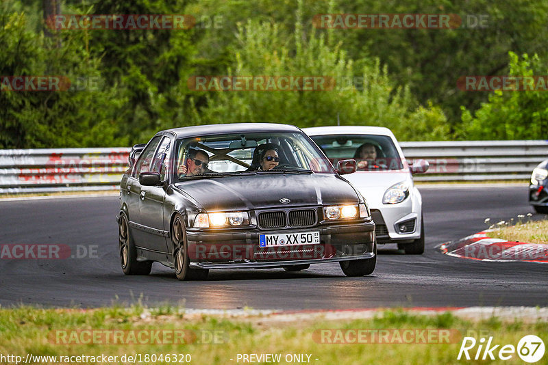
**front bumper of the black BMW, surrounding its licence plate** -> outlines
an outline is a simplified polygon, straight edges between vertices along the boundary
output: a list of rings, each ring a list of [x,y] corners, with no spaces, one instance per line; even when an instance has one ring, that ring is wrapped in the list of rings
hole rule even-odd
[[[260,234],[320,232],[320,243],[259,246]],[[201,269],[280,267],[361,260],[375,257],[375,224],[371,222],[286,230],[203,232],[188,229],[190,267]]]

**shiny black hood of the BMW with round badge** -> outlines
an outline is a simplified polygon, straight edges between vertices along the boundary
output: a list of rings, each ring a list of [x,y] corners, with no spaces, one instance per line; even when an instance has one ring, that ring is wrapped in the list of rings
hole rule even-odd
[[[206,211],[239,211],[275,206],[356,204],[358,193],[332,174],[257,174],[202,178],[175,184]],[[291,202],[282,204],[287,198]]]

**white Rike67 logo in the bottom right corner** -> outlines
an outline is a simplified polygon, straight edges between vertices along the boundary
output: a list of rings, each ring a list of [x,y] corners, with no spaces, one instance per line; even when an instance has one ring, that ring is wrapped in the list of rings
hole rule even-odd
[[[523,336],[516,347],[513,344],[497,344],[493,342],[493,336],[487,340],[482,337],[479,341],[464,337],[457,360],[510,360],[517,353],[521,360],[532,364],[542,359],[544,352],[543,340],[534,335]]]

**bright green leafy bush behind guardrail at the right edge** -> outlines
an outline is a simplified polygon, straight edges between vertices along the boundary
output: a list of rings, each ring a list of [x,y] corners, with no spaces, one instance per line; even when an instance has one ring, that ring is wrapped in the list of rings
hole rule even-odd
[[[510,75],[548,75],[537,55],[510,55]],[[548,94],[542,91],[496,91],[473,113],[462,107],[462,139],[542,139],[548,131]]]

